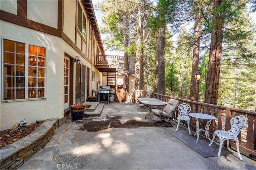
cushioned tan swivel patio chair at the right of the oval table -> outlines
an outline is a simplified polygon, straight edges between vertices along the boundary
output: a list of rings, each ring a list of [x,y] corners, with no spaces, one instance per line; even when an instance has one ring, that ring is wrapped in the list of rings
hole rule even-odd
[[[156,124],[159,126],[173,126],[172,118],[174,113],[177,111],[177,106],[180,103],[180,100],[170,99],[168,104],[164,107],[164,110],[152,109],[154,115],[160,118],[160,121],[156,121]]]

